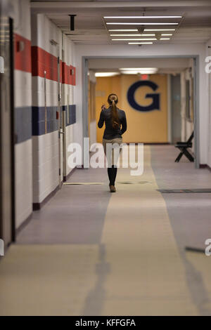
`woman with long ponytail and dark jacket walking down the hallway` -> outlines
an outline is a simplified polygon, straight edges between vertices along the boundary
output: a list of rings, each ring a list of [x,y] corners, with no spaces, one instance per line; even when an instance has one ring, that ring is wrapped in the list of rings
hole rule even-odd
[[[108,95],[108,109],[105,105],[101,107],[101,115],[98,121],[98,127],[102,128],[104,121],[106,128],[103,134],[103,148],[106,154],[107,143],[122,144],[122,134],[127,131],[127,120],[125,112],[117,107],[118,98],[116,94]],[[112,167],[108,167],[108,178],[110,192],[116,192],[115,179],[117,176],[117,167],[115,167],[114,155],[112,157]]]

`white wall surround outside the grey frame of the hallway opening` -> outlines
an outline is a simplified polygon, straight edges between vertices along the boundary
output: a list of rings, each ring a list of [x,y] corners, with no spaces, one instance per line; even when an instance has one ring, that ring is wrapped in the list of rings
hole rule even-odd
[[[167,44],[152,46],[124,46],[111,45],[107,47],[94,45],[76,46],[76,65],[77,65],[77,131],[79,135],[77,142],[82,144],[82,57],[101,56],[101,57],[124,57],[124,56],[199,56],[199,117],[200,117],[200,164],[207,164],[207,119],[208,104],[206,96],[206,75],[205,75],[205,44]]]

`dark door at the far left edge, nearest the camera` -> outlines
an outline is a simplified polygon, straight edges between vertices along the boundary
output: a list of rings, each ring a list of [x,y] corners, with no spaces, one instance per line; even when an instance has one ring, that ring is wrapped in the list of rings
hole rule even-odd
[[[15,240],[13,20],[1,12],[0,30],[0,238],[8,246]]]

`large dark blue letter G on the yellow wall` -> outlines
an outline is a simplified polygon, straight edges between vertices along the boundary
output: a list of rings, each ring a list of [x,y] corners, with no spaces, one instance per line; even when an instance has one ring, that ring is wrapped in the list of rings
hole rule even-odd
[[[129,87],[129,90],[127,91],[127,100],[131,107],[133,107],[135,110],[139,111],[151,111],[151,110],[160,110],[160,94],[146,94],[145,98],[152,98],[153,102],[151,105],[139,105],[139,103],[136,103],[136,100],[134,98],[134,93],[136,92],[136,89],[141,86],[149,86],[152,88],[153,91],[156,91],[158,88],[158,85],[153,83],[153,81],[148,80],[141,80],[136,81],[132,86]]]

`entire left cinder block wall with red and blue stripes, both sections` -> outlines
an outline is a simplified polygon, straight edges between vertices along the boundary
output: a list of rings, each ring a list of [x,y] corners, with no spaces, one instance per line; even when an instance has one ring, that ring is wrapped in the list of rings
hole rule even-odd
[[[74,128],[77,121],[75,45],[45,15],[31,15],[30,0],[11,0],[11,4],[14,9],[15,220],[18,228],[32,214],[33,204],[40,205],[56,190],[63,176],[70,173],[68,145],[75,142],[79,132]],[[57,117],[58,91],[60,112],[66,117],[65,143],[63,136],[60,139],[60,176],[58,128],[62,117]]]

